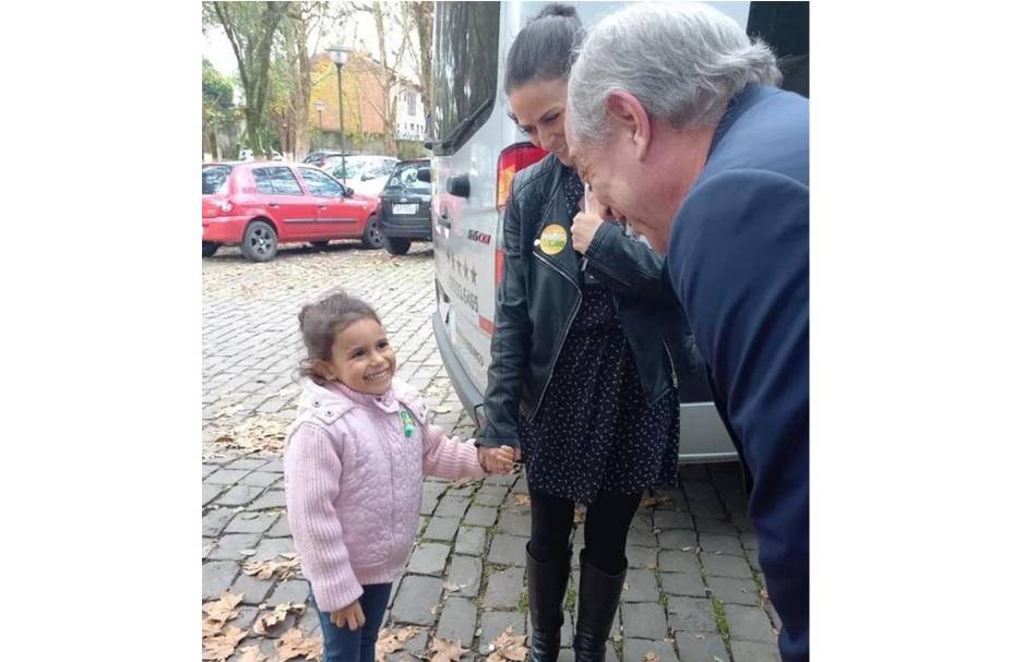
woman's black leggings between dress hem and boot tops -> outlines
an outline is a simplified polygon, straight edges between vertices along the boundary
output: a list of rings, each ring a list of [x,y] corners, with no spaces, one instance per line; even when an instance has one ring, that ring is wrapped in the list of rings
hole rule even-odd
[[[600,494],[587,506],[584,559],[617,575],[626,569],[626,539],[642,494]],[[569,553],[573,502],[531,491],[531,544],[535,561],[549,563]]]

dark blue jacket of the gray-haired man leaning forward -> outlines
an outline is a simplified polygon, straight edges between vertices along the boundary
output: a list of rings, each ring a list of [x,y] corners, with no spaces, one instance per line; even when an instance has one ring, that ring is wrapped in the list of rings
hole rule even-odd
[[[754,481],[781,655],[808,660],[808,99],[753,86],[728,107],[667,268]]]

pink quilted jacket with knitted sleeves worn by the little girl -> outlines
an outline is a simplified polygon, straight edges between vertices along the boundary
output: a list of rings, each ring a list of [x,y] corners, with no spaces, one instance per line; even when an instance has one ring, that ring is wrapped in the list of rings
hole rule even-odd
[[[393,581],[404,570],[424,474],[485,476],[477,447],[450,440],[427,413],[421,395],[400,380],[383,396],[307,380],[285,442],[285,493],[295,549],[321,611],[346,606],[362,585]]]

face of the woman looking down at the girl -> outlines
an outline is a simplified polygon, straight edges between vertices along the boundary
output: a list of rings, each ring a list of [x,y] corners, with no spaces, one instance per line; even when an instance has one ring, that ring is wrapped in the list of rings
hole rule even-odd
[[[572,166],[565,146],[565,92],[561,79],[521,85],[510,93],[510,118],[532,143]]]

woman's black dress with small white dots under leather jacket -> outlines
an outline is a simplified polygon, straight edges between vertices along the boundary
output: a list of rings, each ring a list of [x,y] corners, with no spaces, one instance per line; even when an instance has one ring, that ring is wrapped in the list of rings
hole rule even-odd
[[[583,185],[565,183],[573,215]],[[647,402],[614,294],[582,284],[583,300],[534,421],[521,417],[532,490],[581,504],[598,494],[635,494],[675,482],[678,393]]]

